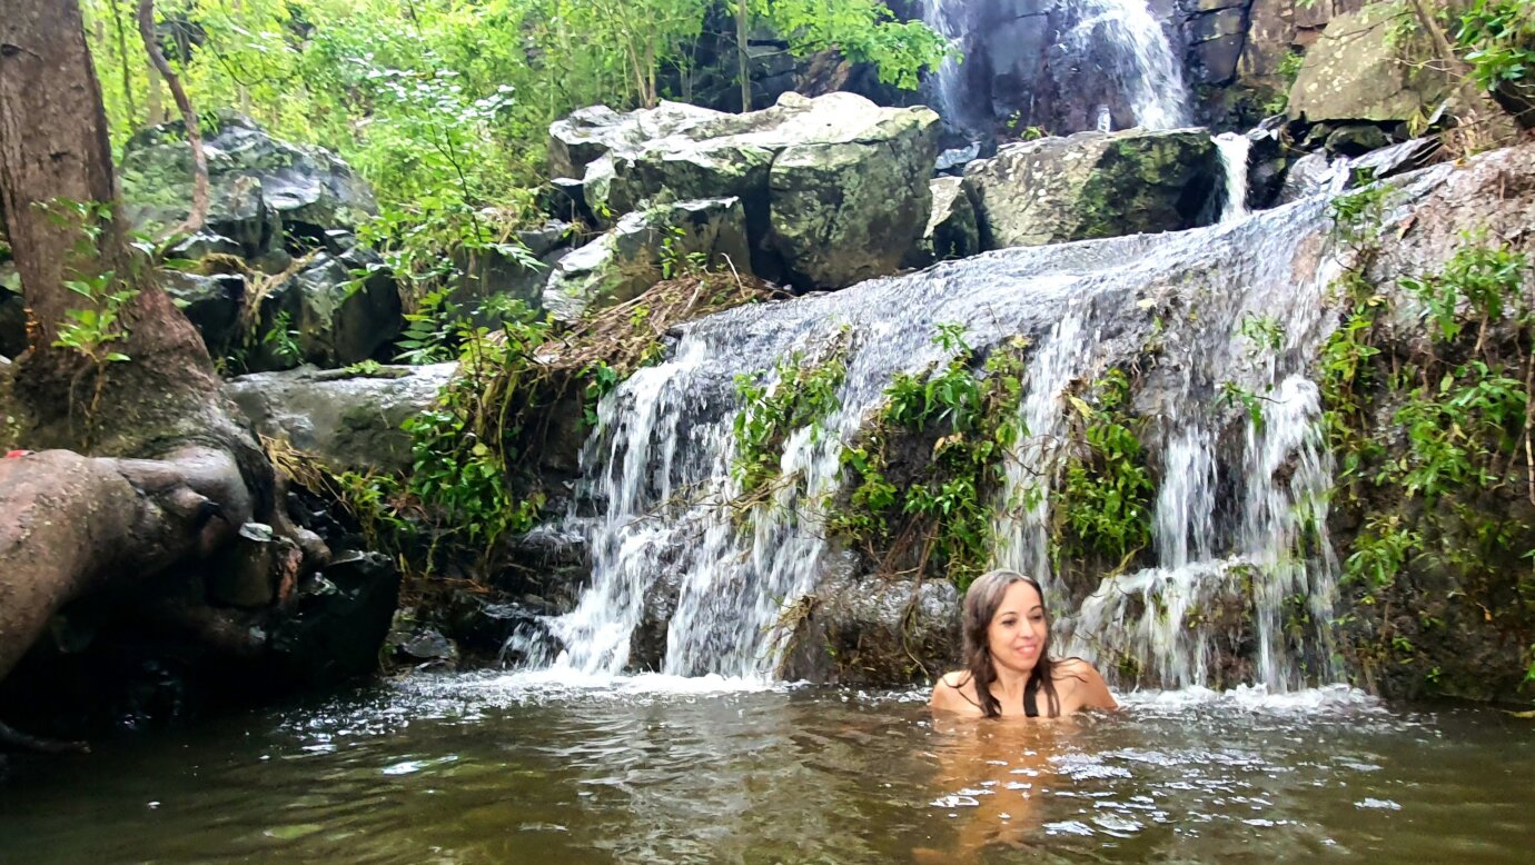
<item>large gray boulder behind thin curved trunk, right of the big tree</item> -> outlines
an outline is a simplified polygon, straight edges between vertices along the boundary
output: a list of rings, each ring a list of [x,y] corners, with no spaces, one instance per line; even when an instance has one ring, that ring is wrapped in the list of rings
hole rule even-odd
[[[318,239],[356,227],[378,210],[367,181],[324,147],[290,144],[232,112],[204,118],[209,170],[207,225],[249,258],[284,247],[286,235]],[[186,219],[192,202],[192,149],[186,126],[135,133],[118,170],[129,218],[157,230]]]

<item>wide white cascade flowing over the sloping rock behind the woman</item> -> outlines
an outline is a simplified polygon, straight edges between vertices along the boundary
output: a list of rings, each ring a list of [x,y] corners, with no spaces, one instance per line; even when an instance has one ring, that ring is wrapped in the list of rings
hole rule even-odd
[[[896,373],[946,359],[932,337],[938,324],[959,322],[976,347],[1015,334],[1035,342],[1021,406],[1028,437],[1007,465],[993,529],[998,563],[1044,580],[1065,647],[1110,670],[1133,658],[1142,681],[1170,687],[1245,679],[1282,690],[1302,682],[1286,640],[1309,627],[1305,664],[1326,678],[1331,466],[1305,379],[1326,330],[1331,273],[1315,259],[1325,235],[1323,201],[1308,199],[1208,229],[985,253],[686,325],[671,360],[635,373],[600,406],[582,492],[600,515],[573,517],[589,540],[593,584],[553,623],[559,663],[774,676],[780,618],[829,567],[818,506],[841,482],[841,443]],[[840,340],[849,340],[841,408],[824,434],[789,437],[791,482],[741,528],[726,506],[738,492],[735,376],[791,351],[814,359]],[[1053,569],[1048,535],[1062,391],[1116,367],[1139,368],[1134,409],[1151,419],[1142,443],[1162,477],[1156,564],[1070,584]],[[1254,394],[1262,416],[1223,391]],[[1217,670],[1216,649],[1243,640],[1257,644],[1251,669]]]

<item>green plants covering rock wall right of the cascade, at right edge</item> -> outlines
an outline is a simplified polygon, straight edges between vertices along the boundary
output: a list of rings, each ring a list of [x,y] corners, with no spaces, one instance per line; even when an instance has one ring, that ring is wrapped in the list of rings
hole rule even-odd
[[[1517,633],[1535,621],[1529,577],[1518,575],[1527,566],[1514,552],[1532,529],[1517,498],[1535,503],[1529,264],[1467,235],[1440,268],[1403,278],[1409,310],[1392,310],[1368,278],[1380,250],[1378,225],[1363,224],[1378,219],[1371,210],[1335,210],[1360,219],[1339,232],[1354,242],[1357,262],[1340,281],[1343,321],[1320,370],[1328,439],[1342,466],[1337,500],[1362,526],[1343,557],[1343,584],[1360,609],[1382,610],[1349,623],[1355,643],[1348,650],[1366,675],[1449,659],[1414,643],[1394,606],[1418,610],[1415,633],[1443,629],[1455,606],[1471,607],[1457,627],[1486,621]],[[1406,339],[1397,331],[1405,311],[1423,324]],[[1382,405],[1394,406],[1389,423],[1372,429]],[[1449,580],[1449,590],[1424,595],[1421,580],[1401,580],[1409,566],[1431,583]],[[1448,670],[1420,672],[1435,690],[1466,687]]]

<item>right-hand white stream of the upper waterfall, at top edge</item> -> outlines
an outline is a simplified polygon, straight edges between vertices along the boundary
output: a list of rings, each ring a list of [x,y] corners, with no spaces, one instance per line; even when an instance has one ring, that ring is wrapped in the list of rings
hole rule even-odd
[[[1188,84],[1147,0],[1084,0],[1079,14],[1064,43],[1076,55],[1088,55],[1094,48],[1108,52],[1104,72],[1119,84],[1136,126],[1188,126]]]

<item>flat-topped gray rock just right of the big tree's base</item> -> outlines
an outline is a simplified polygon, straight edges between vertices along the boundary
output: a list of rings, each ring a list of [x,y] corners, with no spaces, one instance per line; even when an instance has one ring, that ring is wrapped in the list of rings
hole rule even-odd
[[[224,385],[262,436],[292,443],[332,471],[404,471],[410,434],[401,425],[436,403],[456,363],[255,373]]]

